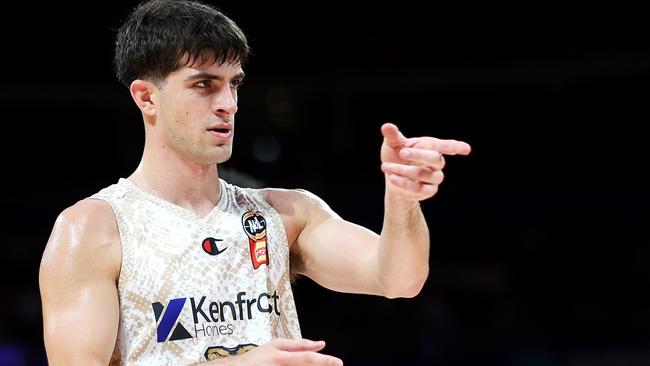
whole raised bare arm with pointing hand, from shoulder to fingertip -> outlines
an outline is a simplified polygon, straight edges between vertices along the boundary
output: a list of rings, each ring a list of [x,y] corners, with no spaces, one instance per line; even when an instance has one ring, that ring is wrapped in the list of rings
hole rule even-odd
[[[332,290],[394,297],[419,293],[429,271],[429,231],[419,201],[442,182],[442,154],[467,154],[464,142],[405,138],[382,127],[385,173],[381,235],[343,220],[318,197],[274,190],[271,202],[285,219],[297,272]]]

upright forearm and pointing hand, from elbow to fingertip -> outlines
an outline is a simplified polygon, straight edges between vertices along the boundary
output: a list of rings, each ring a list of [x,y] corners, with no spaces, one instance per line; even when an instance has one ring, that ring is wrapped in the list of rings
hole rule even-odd
[[[384,224],[378,250],[379,282],[388,297],[417,295],[429,273],[429,230],[420,201],[433,197],[444,178],[444,155],[467,155],[469,144],[434,137],[406,138],[381,127],[381,169],[386,180]]]

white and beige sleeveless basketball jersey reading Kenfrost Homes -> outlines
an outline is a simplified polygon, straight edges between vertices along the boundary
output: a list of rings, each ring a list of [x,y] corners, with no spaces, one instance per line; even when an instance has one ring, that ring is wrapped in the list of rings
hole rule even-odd
[[[254,189],[223,180],[201,218],[120,179],[106,201],[122,241],[111,365],[187,365],[300,338],[282,219]]]

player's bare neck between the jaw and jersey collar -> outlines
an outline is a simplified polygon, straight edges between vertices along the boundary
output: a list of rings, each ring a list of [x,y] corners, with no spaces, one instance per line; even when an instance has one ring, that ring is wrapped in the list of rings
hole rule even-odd
[[[216,164],[197,164],[170,149],[148,149],[128,178],[141,189],[204,216],[219,201]]]

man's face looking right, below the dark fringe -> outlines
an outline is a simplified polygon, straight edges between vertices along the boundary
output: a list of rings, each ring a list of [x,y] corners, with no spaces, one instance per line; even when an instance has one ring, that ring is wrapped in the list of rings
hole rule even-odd
[[[167,77],[157,94],[156,131],[165,147],[197,164],[230,158],[241,65],[190,65]]]

